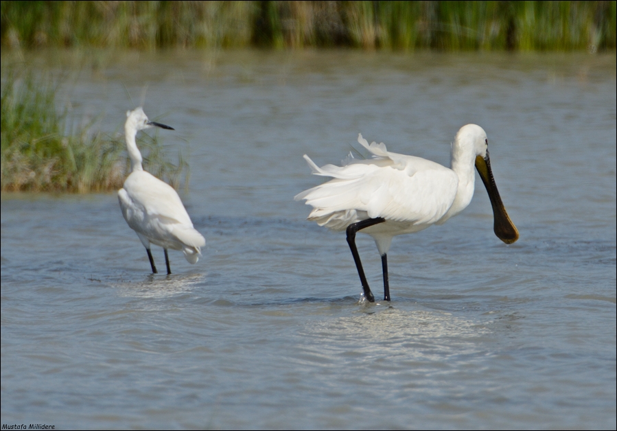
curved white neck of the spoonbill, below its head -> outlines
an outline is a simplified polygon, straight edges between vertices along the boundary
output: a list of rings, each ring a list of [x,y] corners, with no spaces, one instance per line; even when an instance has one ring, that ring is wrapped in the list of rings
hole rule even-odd
[[[474,172],[474,161],[476,154],[470,145],[458,145],[455,141],[452,144],[452,170],[458,175],[458,190],[452,207],[444,215],[443,221],[452,217],[467,208],[469,202],[474,197],[474,187],[476,185],[476,172]],[[441,222],[441,220],[440,220]]]

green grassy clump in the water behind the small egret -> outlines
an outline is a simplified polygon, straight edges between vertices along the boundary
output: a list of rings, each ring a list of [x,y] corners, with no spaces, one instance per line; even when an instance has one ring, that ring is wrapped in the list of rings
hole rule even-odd
[[[4,69],[4,68],[3,68]],[[2,191],[88,193],[122,187],[130,169],[124,137],[92,132],[93,124],[74,126],[56,93],[62,80],[27,69],[3,70],[1,86]],[[145,169],[178,187],[187,164],[167,161],[156,138],[138,139]]]

